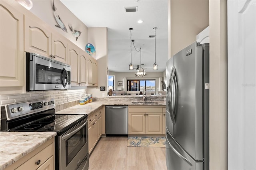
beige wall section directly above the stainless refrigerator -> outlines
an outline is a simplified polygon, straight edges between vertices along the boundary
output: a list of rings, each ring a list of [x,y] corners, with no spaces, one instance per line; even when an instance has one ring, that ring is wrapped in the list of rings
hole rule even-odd
[[[170,58],[209,26],[209,0],[170,0]]]

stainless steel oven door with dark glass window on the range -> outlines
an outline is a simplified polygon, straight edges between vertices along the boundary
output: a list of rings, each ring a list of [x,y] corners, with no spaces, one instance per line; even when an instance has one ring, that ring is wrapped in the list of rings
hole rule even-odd
[[[77,170],[88,154],[88,121],[85,119],[59,136],[59,170]],[[86,161],[89,161],[87,158]],[[89,162],[86,164],[89,164]]]

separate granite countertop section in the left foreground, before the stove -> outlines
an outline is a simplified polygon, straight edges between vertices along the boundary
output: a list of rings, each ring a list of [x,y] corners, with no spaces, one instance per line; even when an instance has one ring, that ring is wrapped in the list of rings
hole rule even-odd
[[[0,170],[32,152],[56,132],[0,132]]]

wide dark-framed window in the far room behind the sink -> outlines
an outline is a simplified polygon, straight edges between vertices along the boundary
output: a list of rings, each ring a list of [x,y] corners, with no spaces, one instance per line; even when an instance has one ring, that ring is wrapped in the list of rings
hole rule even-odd
[[[156,80],[127,80],[127,91],[151,91],[156,94]]]

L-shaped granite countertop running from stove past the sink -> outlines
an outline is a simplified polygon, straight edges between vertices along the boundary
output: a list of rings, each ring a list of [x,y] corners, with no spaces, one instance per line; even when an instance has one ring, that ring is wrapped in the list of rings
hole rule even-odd
[[[140,104],[132,103],[132,101],[93,101],[85,105],[75,105],[67,109],[56,112],[56,114],[87,114],[100,109],[104,105],[128,105],[128,106],[166,106],[166,101],[156,101],[158,103]]]

